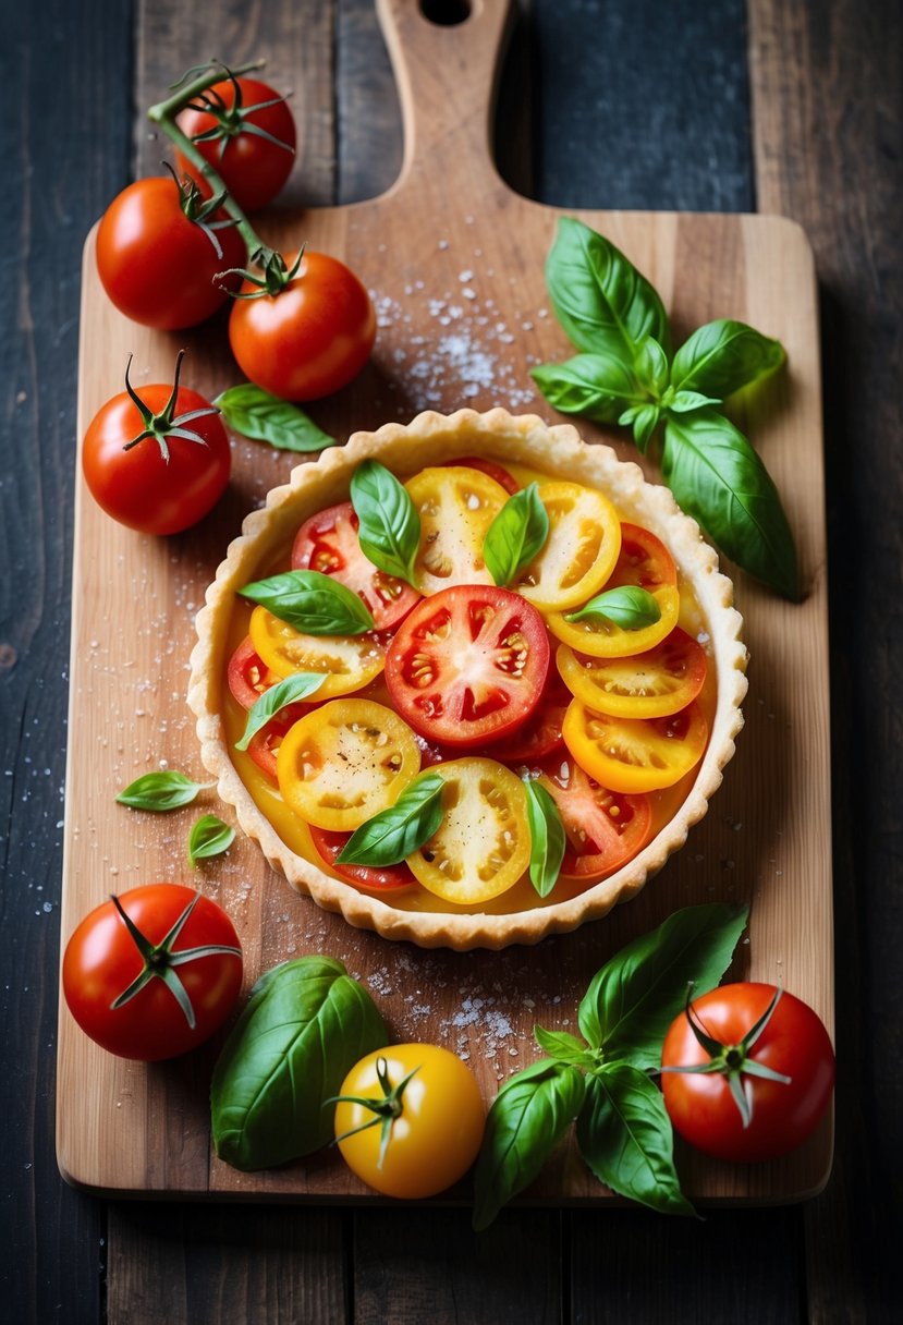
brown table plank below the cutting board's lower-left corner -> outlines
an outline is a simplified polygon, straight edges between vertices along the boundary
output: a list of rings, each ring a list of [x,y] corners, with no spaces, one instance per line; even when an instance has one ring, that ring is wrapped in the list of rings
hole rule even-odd
[[[319,1210],[110,1207],[109,1325],[335,1325],[342,1220]]]

